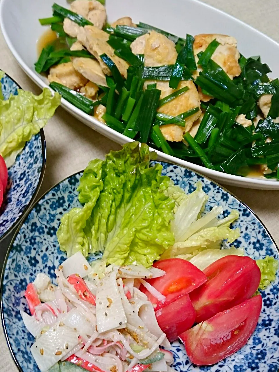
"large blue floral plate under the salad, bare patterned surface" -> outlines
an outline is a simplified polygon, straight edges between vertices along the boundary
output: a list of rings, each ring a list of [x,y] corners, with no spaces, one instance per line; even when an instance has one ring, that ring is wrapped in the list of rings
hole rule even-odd
[[[234,228],[240,227],[241,238],[234,242],[236,247],[245,247],[246,253],[254,259],[272,255],[279,259],[269,232],[253,212],[221,186],[185,168],[161,163],[163,174],[173,179],[186,192],[195,190],[199,180],[209,195],[206,210],[221,205],[224,217],[231,209],[240,212]],[[7,343],[17,368],[21,372],[37,372],[38,367],[30,352],[34,339],[25,329],[20,310],[27,310],[23,297],[29,282],[39,272],[47,273],[55,280],[54,269],[65,259],[60,252],[56,232],[62,215],[73,207],[80,206],[77,186],[82,173],[65,179],[45,194],[34,206],[19,227],[7,253],[1,278],[1,317]],[[94,259],[93,256],[92,258]],[[279,368],[279,277],[264,292],[263,309],[259,323],[246,346],[234,355],[214,366],[197,367],[189,362],[185,349],[179,341],[172,344],[175,362],[173,368],[179,372],[277,372]]]

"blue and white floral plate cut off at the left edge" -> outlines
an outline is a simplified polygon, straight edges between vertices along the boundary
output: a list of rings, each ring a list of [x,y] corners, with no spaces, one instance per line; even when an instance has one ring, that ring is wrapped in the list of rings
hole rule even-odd
[[[8,75],[1,79],[4,99],[16,95],[20,86]],[[0,241],[19,223],[31,207],[45,173],[46,147],[44,131],[32,137],[16,162],[8,169],[9,180],[0,208]]]

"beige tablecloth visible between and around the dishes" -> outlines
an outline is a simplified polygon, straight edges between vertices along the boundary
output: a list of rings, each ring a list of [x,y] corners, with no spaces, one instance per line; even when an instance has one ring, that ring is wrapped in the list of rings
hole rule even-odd
[[[205,2],[230,13],[279,41],[278,0],[205,0]],[[0,68],[13,77],[23,89],[31,90],[35,93],[40,92],[38,87],[20,69],[7,48],[1,33]],[[96,157],[104,158],[104,155],[109,150],[118,150],[120,148],[115,142],[87,128],[87,126],[77,121],[62,108],[57,110],[54,118],[46,126],[45,137],[47,141],[47,168],[39,196],[65,177],[84,169],[89,160]],[[277,244],[279,244],[279,191],[226,187],[253,209],[266,225]],[[3,262],[8,243],[8,240],[1,243],[0,264]],[[0,371],[17,371],[2,330],[0,330]]]

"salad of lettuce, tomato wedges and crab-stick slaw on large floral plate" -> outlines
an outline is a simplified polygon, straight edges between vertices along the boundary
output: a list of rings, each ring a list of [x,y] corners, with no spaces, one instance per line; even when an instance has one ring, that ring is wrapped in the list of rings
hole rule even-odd
[[[187,195],[153,158],[131,142],[84,170],[81,206],[57,231],[68,258],[54,282],[39,273],[25,291],[42,372],[171,372],[177,339],[212,365],[253,334],[278,261],[235,248],[238,212],[205,212],[202,183]]]

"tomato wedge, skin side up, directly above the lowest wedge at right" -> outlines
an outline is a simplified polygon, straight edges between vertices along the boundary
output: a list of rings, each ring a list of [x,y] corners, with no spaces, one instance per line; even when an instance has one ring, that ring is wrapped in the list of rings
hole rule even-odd
[[[190,294],[196,323],[250,298],[259,288],[261,272],[250,257],[227,256],[203,270],[208,281]]]

